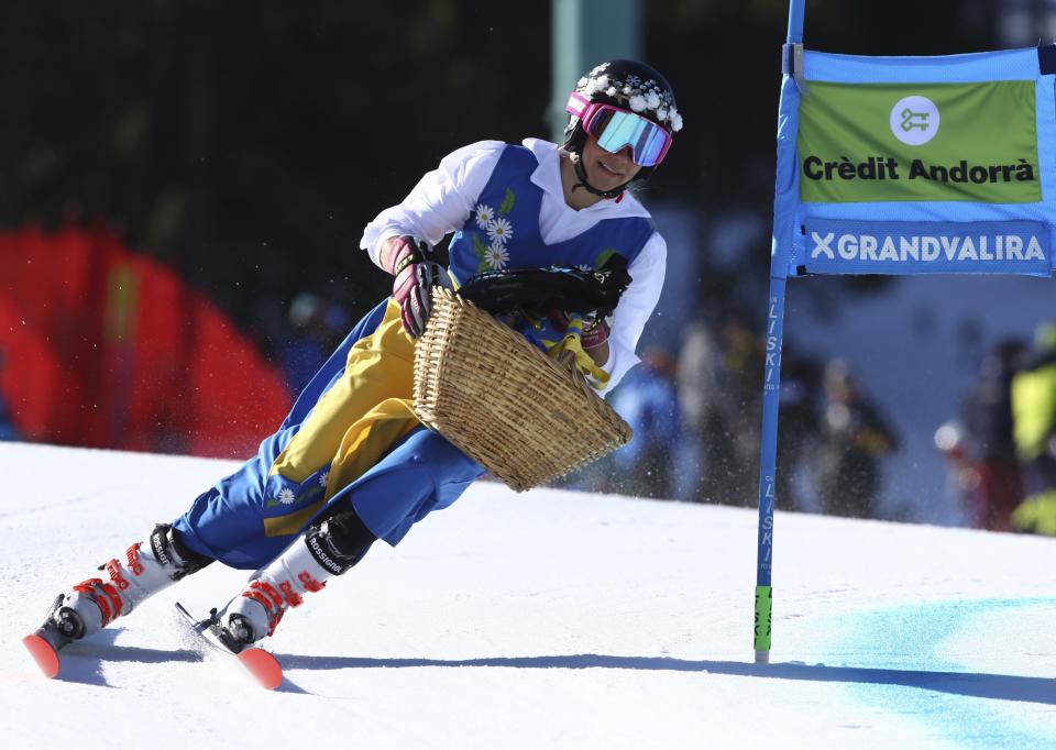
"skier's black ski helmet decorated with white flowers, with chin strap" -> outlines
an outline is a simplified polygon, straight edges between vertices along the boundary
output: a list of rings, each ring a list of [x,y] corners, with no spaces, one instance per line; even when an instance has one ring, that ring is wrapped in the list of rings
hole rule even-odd
[[[682,115],[674,101],[674,90],[656,68],[636,60],[612,59],[580,78],[566,108],[572,117],[564,129],[564,150],[574,155],[575,174],[583,186],[603,198],[616,198],[628,185],[649,179],[657,167],[641,167],[634,179],[612,190],[602,191],[587,183],[581,158],[586,144],[586,131],[576,114],[584,101],[591,104],[612,104],[639,114],[658,124],[669,136],[682,130]]]

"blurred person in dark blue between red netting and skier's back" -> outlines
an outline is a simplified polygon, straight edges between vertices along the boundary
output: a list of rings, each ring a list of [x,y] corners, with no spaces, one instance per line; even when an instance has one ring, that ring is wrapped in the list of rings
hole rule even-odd
[[[349,326],[348,313],[333,302],[302,293],[289,306],[289,339],[280,346],[289,391],[300,393],[337,348]]]

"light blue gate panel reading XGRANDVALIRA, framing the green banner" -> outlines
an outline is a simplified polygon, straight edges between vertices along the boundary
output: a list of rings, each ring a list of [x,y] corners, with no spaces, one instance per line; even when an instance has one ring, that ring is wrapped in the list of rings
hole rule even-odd
[[[787,278],[803,273],[1050,276],[1056,239],[1056,76],[1048,70],[1043,73],[1041,62],[1042,56],[1050,52],[1052,47],[1042,47],[943,57],[862,57],[804,51],[799,56],[799,82],[792,75],[785,75],[782,80],[771,276]],[[1007,80],[1034,84],[1042,200],[1025,203],[800,200],[799,109],[802,98],[810,96],[812,81],[913,85]],[[814,233],[823,239],[833,234],[828,251],[824,250],[824,242],[823,249],[817,249]],[[846,256],[839,252],[844,235],[849,235],[843,240]],[[888,240],[890,243],[886,244]],[[853,246],[856,250],[853,251]]]

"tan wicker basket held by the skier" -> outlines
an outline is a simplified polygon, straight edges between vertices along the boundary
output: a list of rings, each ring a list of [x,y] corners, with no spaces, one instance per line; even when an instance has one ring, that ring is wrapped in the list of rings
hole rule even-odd
[[[415,348],[415,411],[517,492],[631,438],[571,360],[554,362],[455,294],[433,290]]]

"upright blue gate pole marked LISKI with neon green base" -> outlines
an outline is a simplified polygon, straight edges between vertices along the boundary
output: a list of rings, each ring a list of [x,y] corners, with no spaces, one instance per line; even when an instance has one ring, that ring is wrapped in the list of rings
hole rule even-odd
[[[800,91],[792,75],[802,59],[791,46],[803,42],[806,0],[790,0],[789,30],[781,103],[778,111],[778,170],[773,198],[773,244],[770,257],[770,296],[767,300],[767,362],[762,383],[762,433],[759,446],[759,533],[756,558],[756,661],[770,661],[773,622],[773,506],[777,501],[778,413],[781,388],[781,345],[784,338],[784,288],[796,203],[795,137],[799,131]]]

